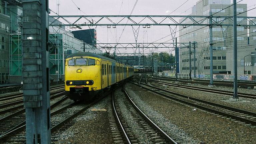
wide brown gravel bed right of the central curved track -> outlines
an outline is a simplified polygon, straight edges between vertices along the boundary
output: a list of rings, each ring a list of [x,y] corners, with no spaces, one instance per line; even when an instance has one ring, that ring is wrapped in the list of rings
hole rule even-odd
[[[156,113],[161,114],[166,123],[177,125],[197,140],[197,143],[242,144],[256,141],[256,128],[193,110],[133,84],[127,84],[126,87],[134,102],[146,115],[152,118]],[[147,108],[156,113],[152,110],[147,111]]]

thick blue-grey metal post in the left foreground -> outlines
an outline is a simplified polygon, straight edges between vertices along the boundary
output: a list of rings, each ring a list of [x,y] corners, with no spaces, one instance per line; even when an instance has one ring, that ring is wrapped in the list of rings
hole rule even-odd
[[[23,0],[23,101],[26,143],[50,144],[48,0]]]

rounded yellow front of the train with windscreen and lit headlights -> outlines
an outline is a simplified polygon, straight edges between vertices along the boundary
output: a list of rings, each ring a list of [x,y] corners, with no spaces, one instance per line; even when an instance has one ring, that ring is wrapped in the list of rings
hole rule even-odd
[[[65,61],[65,91],[71,100],[91,100],[101,90],[100,60],[95,57],[70,57]]]

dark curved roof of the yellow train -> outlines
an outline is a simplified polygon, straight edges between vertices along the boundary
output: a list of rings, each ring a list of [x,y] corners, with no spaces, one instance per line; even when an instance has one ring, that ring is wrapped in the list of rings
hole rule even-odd
[[[78,57],[78,56],[96,57],[96,58],[100,58],[100,59],[106,59],[106,60],[115,61],[115,62],[118,62],[118,63],[121,63],[121,64],[125,64],[125,63],[119,62],[117,60],[111,59],[109,57],[105,57],[105,56],[102,56],[102,55],[99,55],[99,54],[96,54],[96,53],[90,53],[90,52],[77,52],[77,53],[73,53],[71,55],[68,55],[67,58]],[[125,64],[125,65],[131,66],[131,65],[128,65],[128,64]]]

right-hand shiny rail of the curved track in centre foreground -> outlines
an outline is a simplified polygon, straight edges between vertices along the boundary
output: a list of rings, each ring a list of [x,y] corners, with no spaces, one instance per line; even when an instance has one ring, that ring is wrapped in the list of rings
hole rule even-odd
[[[170,142],[170,144],[177,144],[170,136],[168,136],[161,128],[159,128],[153,121],[151,121],[137,106],[136,104],[132,101],[132,99],[130,98],[129,94],[127,93],[127,91],[125,90],[125,88],[123,87],[123,91],[126,94],[126,96],[128,97],[130,103],[132,104],[132,106],[136,109],[136,111],[138,111],[167,141]]]

